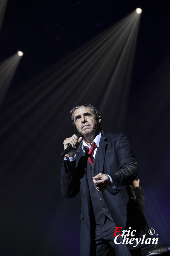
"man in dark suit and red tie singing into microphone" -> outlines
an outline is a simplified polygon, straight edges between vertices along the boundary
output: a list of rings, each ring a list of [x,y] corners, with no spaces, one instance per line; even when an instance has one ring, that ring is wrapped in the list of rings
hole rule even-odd
[[[63,161],[61,191],[65,198],[81,193],[81,256],[140,256],[146,245],[136,241],[150,236],[132,184],[137,162],[129,140],[125,134],[104,134],[90,103],[76,104],[70,114],[82,137],[64,140],[64,149],[69,144],[72,149]],[[135,231],[123,242],[123,230]]]

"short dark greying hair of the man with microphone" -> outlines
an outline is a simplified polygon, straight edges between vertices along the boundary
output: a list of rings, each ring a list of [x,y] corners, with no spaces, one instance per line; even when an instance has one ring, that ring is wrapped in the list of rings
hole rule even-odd
[[[98,109],[97,109],[95,106],[93,106],[93,105],[90,104],[89,102],[78,102],[78,103],[70,110],[72,124],[74,124],[74,126],[75,126],[75,123],[74,123],[74,111],[75,111],[76,109],[78,109],[78,108],[81,108],[81,107],[90,108],[90,110],[92,111],[92,113],[93,113],[94,116],[95,116],[96,123],[98,124],[98,116],[100,116],[99,111],[98,111]],[[100,125],[99,127],[101,128],[101,125]]]

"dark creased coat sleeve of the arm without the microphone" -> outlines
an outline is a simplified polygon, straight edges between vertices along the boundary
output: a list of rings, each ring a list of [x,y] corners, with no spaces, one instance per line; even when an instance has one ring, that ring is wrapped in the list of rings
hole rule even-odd
[[[117,191],[130,185],[137,176],[137,162],[130,142],[125,134],[121,134],[115,141],[118,159],[118,170],[111,175]]]

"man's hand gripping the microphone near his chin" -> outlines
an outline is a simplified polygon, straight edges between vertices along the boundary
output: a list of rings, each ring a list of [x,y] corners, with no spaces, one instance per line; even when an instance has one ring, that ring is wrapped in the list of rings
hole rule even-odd
[[[78,148],[81,141],[82,137],[78,139],[76,134],[73,134],[73,136],[70,138],[66,138],[63,142],[64,150],[67,148],[69,144],[72,146],[72,149],[65,156],[75,156],[76,149]]]

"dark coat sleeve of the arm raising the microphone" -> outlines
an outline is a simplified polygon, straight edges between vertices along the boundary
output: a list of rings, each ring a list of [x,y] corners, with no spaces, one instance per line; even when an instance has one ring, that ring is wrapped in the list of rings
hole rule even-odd
[[[61,169],[61,192],[65,198],[73,198],[80,191],[80,179],[76,173],[76,160],[63,161]]]

